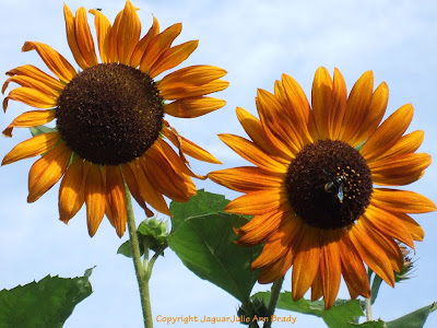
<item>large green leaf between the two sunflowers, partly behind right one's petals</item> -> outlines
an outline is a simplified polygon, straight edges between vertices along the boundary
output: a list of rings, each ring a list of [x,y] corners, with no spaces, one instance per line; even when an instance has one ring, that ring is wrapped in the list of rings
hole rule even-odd
[[[187,203],[172,202],[168,244],[188,269],[244,303],[258,279],[259,271],[251,270],[250,263],[261,247],[235,245],[233,229],[249,219],[224,212],[227,203],[223,196],[203,190]]]

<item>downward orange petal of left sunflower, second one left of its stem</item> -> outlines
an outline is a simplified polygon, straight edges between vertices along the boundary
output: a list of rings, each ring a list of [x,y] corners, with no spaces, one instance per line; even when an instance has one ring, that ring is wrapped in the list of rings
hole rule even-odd
[[[91,237],[95,235],[105,214],[106,190],[98,165],[84,162],[84,169],[88,171],[85,183],[86,223]]]

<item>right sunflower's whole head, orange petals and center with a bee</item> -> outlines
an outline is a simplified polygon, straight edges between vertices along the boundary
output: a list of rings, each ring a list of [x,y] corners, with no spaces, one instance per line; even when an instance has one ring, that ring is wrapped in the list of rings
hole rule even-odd
[[[409,213],[436,210],[433,201],[404,186],[420,179],[430,156],[415,153],[424,133],[403,136],[413,117],[404,105],[381,125],[388,87],[374,91],[371,71],[347,96],[344,79],[319,68],[311,107],[299,84],[283,74],[274,94],[258,90],[260,119],[243,108],[237,116],[250,140],[220,138],[256,166],[216,171],[209,177],[246,195],[231,201],[228,212],[255,215],[236,229],[237,244],[264,244],[252,262],[262,269],[260,283],[283,277],[293,266],[292,296],[311,288],[311,300],[330,308],[341,276],[351,297],[370,296],[363,262],[391,286],[393,270],[403,267],[395,241],[414,247],[424,231]]]

